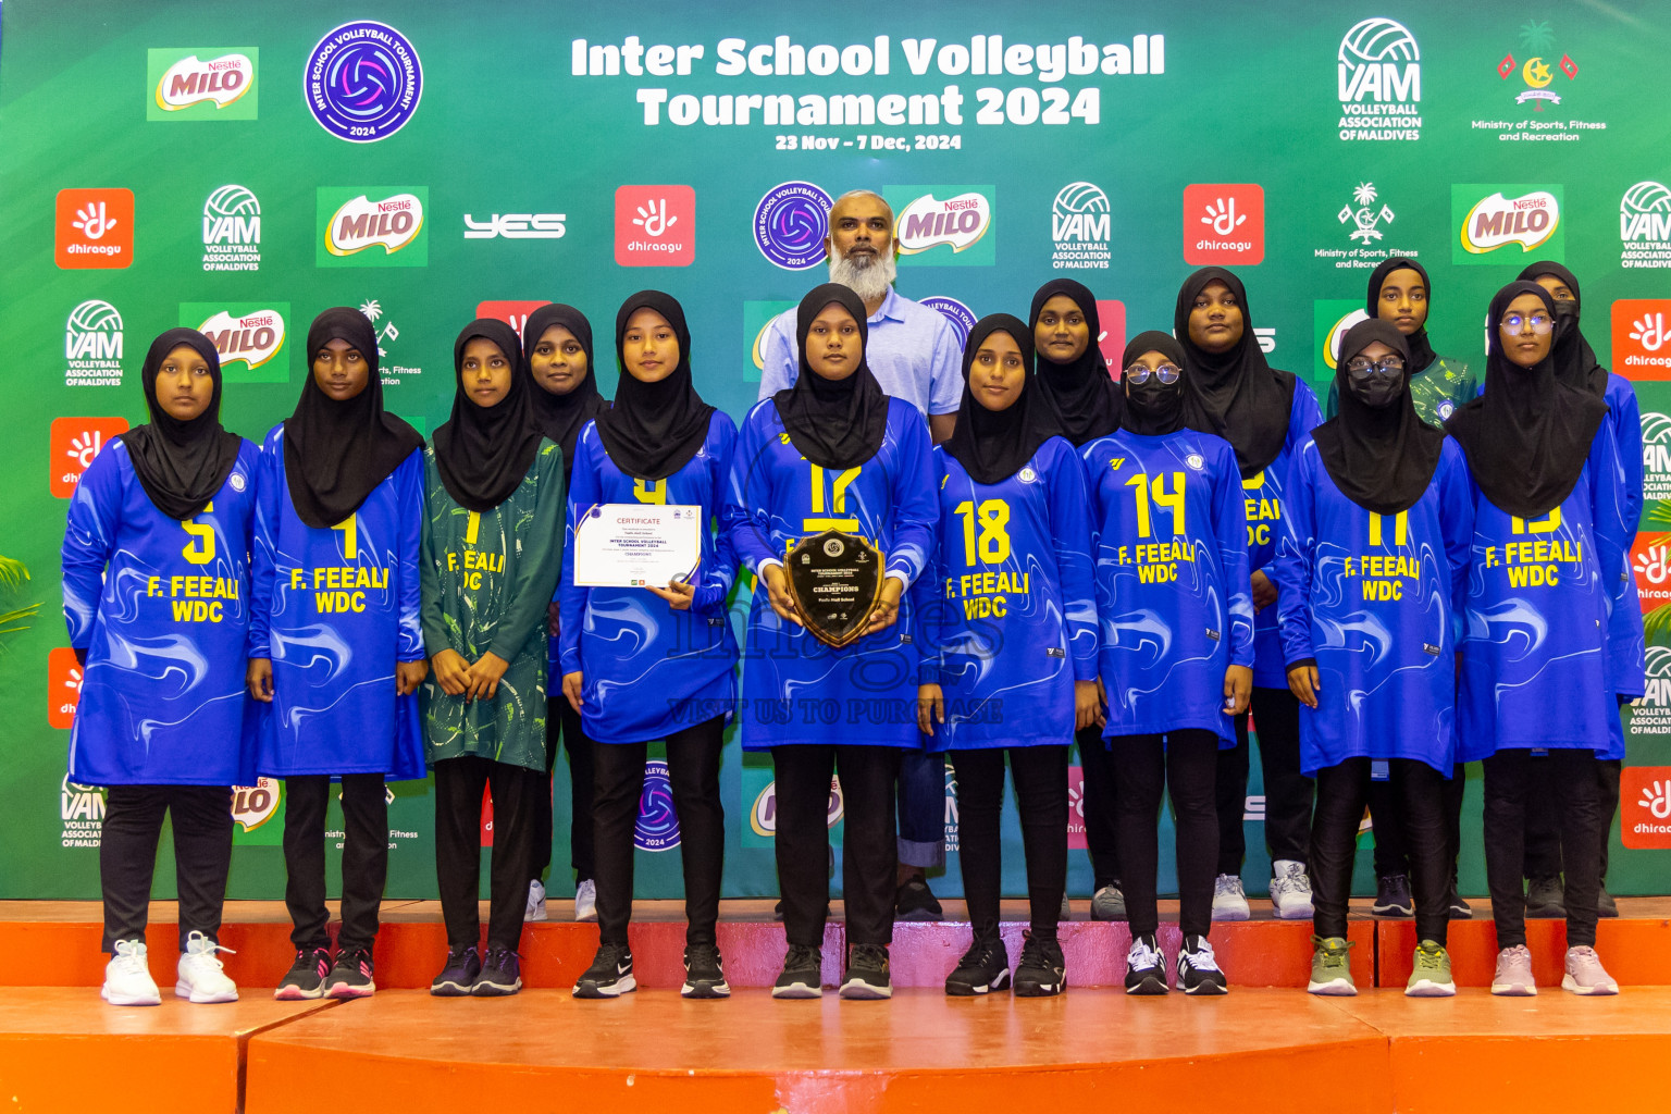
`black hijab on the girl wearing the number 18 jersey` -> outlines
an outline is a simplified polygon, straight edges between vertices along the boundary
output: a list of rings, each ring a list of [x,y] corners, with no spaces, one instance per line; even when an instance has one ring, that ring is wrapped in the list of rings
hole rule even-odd
[[[1021,349],[1024,372],[1021,394],[1001,411],[986,409],[969,391],[969,367],[974,366],[981,342],[994,332],[1008,332],[1014,339]],[[1061,434],[1036,382],[1033,331],[1009,314],[988,314],[976,321],[962,346],[962,401],[957,404],[957,424],[946,441],[946,453],[956,458],[976,483],[994,484],[1009,479],[1033,459],[1044,441]]]

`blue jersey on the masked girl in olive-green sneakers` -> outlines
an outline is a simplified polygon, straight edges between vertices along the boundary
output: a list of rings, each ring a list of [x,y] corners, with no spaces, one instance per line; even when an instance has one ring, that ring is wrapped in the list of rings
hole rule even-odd
[[[1288,665],[1317,663],[1300,706],[1300,770],[1347,758],[1455,765],[1455,628],[1467,590],[1474,493],[1445,438],[1427,491],[1399,514],[1335,486],[1310,436],[1288,468],[1277,606]]]

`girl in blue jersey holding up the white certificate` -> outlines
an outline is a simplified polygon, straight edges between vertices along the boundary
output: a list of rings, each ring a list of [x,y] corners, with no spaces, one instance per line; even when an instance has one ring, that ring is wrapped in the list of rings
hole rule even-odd
[[[667,777],[678,813],[685,870],[685,984],[690,999],[727,997],[715,922],[725,863],[720,748],[737,701],[737,641],[725,613],[737,575],[730,538],[710,526],[737,443],[732,419],[690,381],[685,311],[640,291],[615,314],[620,384],[615,404],[580,433],[568,491],[561,578],[563,695],[595,740],[593,848],[598,872],[598,954],[575,997],[635,990],[632,919],[633,828],[652,740],[667,740]],[[658,506],[695,514],[700,558],[660,585],[576,585],[576,538],[595,509]]]

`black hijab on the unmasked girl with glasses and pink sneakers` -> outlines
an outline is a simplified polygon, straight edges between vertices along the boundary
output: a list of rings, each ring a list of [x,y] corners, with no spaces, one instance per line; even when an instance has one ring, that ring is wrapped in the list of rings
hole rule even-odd
[[[1532,367],[1507,357],[1499,322],[1521,294],[1537,296],[1554,316],[1554,299],[1536,282],[1497,291],[1486,329],[1486,392],[1459,406],[1445,431],[1462,446],[1487,499],[1509,514],[1542,518],[1577,484],[1608,404],[1556,379],[1554,346]]]

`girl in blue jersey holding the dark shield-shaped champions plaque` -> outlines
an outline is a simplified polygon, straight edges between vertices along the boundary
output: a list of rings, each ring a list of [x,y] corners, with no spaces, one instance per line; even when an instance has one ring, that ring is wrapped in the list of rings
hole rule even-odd
[[[934,546],[932,446],[922,414],[882,394],[866,364],[857,294],[814,289],[800,301],[795,336],[800,376],[749,411],[725,504],[737,554],[759,578],[742,745],[769,750],[777,777],[789,954],[772,994],[824,992],[825,820],[839,772],[849,942],[841,994],[886,999],[894,777],[899,752],[921,745],[917,646],[902,596]]]

